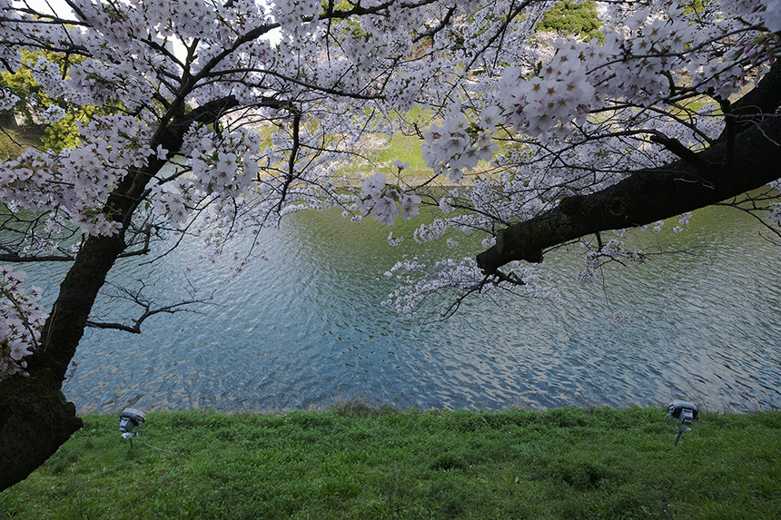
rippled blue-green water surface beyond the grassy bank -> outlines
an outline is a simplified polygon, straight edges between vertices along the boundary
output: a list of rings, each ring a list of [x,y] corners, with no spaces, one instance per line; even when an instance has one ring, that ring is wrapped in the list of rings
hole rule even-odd
[[[781,406],[781,248],[737,211],[700,211],[684,233],[654,235],[687,252],[609,268],[604,284],[574,281],[578,250],[549,254],[551,272],[571,273],[565,305],[472,300],[430,324],[381,306],[395,288],[381,273],[416,250],[389,247],[389,230],[374,224],[293,215],[263,237],[269,260],[230,281],[194,262],[194,247],[153,268],[118,265],[116,283],[143,279],[174,297],[192,283],[199,297],[214,292],[213,303],[150,319],[142,335],[89,329],[67,397],[82,412],[281,410],[353,397],[483,409],[677,397],[711,410]],[[112,318],[111,305],[99,314]],[[614,310],[631,322],[615,322]]]

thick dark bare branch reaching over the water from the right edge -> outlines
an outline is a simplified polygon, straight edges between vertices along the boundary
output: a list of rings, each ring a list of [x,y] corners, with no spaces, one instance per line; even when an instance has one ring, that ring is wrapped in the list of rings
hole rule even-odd
[[[540,261],[542,251],[596,233],[646,225],[697,210],[754,190],[781,176],[781,117],[768,116],[737,134],[733,161],[726,167],[725,142],[697,152],[692,162],[676,161],[633,172],[590,195],[563,199],[559,206],[497,234],[496,245],[480,253],[486,274],[513,260]]]

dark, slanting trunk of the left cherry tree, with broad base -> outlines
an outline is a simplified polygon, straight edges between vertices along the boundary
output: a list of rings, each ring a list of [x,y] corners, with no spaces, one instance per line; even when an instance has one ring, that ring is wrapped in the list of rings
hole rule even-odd
[[[172,104],[172,116],[161,125],[150,146],[169,157],[180,151],[183,135],[194,122],[213,123],[238,103],[227,96],[183,113],[183,98]],[[177,108],[178,107],[178,108]],[[0,384],[0,491],[24,480],[82,426],[62,383],[106,275],[125,249],[125,230],[143,199],[143,191],[165,161],[152,158],[143,171],[131,171],[106,203],[106,212],[122,224],[111,237],[89,237],[60,285],[41,345],[28,363],[29,378],[14,376]],[[110,211],[108,211],[110,209]]]

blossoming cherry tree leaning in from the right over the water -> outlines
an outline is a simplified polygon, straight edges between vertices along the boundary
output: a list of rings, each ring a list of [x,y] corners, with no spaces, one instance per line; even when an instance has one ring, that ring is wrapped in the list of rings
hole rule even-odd
[[[511,25],[501,44],[464,38],[461,59],[475,74],[421,134],[432,171],[465,186],[440,198],[442,218],[414,238],[482,231],[486,249],[400,262],[388,273],[403,284],[390,302],[413,313],[456,288],[448,315],[500,286],[556,298],[539,281],[546,251],[579,242],[575,276],[592,282],[608,261],[648,260],[628,250],[626,230],[675,216],[683,226],[710,204],[750,212],[777,240],[779,15],[776,2],[611,3],[601,8],[604,40],[512,46],[529,32]],[[480,160],[489,167],[479,171]]]

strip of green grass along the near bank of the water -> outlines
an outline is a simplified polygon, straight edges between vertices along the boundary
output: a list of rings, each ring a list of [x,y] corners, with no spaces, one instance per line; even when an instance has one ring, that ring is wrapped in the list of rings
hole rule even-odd
[[[700,417],[673,446],[655,408],[150,413],[164,453],[89,416],[0,519],[781,518],[781,412]]]

